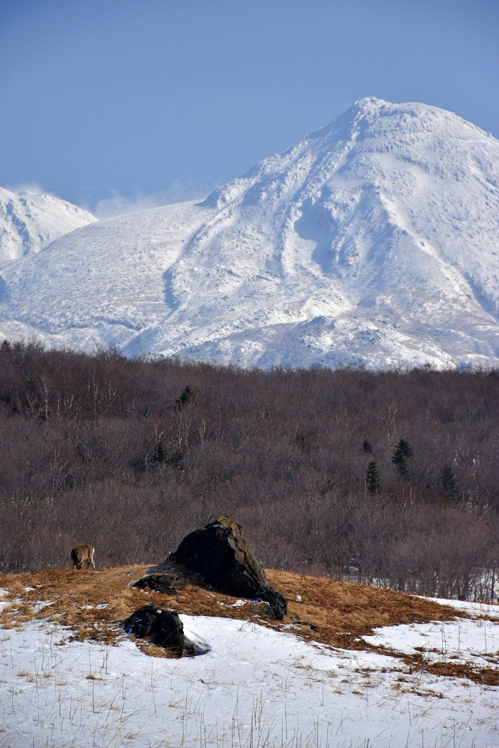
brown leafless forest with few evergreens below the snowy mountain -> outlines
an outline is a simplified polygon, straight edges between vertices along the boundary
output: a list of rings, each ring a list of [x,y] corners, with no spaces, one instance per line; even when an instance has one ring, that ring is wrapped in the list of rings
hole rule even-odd
[[[157,562],[230,514],[264,565],[490,599],[499,371],[269,372],[0,346],[0,571]]]

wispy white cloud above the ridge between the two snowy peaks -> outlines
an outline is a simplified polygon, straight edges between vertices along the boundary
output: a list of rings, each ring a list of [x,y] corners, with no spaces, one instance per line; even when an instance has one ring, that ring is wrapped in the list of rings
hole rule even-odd
[[[117,215],[136,213],[147,208],[157,208],[171,203],[183,203],[186,200],[200,200],[206,197],[214,185],[201,185],[194,180],[174,180],[168,189],[145,194],[135,190],[134,194],[123,195],[117,190],[111,189],[111,197],[99,200],[95,206],[85,205],[85,209],[91,210],[96,218],[115,218]]]

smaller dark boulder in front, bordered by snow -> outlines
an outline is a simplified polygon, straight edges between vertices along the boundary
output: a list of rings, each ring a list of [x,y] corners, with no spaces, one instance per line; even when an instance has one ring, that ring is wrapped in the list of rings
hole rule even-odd
[[[159,610],[154,605],[144,605],[123,621],[123,628],[138,639],[147,639],[156,646],[174,649],[177,654],[183,652],[183,623],[175,610]]]

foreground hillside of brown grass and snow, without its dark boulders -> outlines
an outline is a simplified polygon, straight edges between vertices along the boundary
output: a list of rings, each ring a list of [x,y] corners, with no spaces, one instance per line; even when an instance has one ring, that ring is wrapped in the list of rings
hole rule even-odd
[[[0,577],[1,745],[495,745],[497,606],[269,570],[290,600],[277,623],[199,582],[133,589],[146,570]],[[127,637],[120,622],[150,602],[178,610],[204,653]]]

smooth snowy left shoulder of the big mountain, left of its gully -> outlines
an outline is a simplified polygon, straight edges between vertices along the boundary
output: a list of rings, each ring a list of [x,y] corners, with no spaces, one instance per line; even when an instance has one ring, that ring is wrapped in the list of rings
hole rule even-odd
[[[184,236],[211,214],[184,203],[89,224],[53,242],[36,262],[28,257],[9,267],[10,298],[1,305],[5,316],[15,310],[9,337],[126,346],[164,319],[162,275],[183,251]]]

